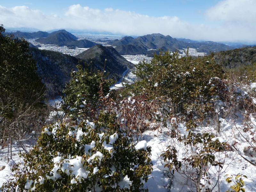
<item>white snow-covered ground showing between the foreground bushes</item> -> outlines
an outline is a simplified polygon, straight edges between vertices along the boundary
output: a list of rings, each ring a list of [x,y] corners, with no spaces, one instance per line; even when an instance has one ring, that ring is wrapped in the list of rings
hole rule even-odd
[[[225,140],[228,144],[234,143],[234,141],[237,142],[236,146],[241,151],[243,151],[244,148],[248,147],[248,143],[241,137],[241,119],[240,117],[237,117],[236,119],[232,118],[225,118],[221,119],[221,133],[219,134],[219,139]],[[250,117],[252,122],[256,124],[255,116]],[[146,140],[147,146],[151,146],[152,148],[152,162],[153,162],[153,172],[149,176],[149,180],[147,183],[145,183],[145,187],[149,189],[149,192],[163,192],[168,191],[171,189],[171,191],[180,191],[180,192],[188,192],[188,191],[195,191],[193,188],[193,185],[189,182],[188,178],[185,177],[185,175],[182,175],[178,172],[174,172],[174,178],[173,183],[171,186],[169,186],[169,180],[166,177],[163,177],[163,171],[168,171],[167,168],[164,168],[165,162],[162,158],[160,158],[160,155],[163,153],[164,150],[166,150],[168,145],[175,146],[177,149],[179,149],[178,153],[178,159],[182,160],[184,157],[188,157],[188,154],[190,153],[190,149],[186,148],[184,145],[182,145],[180,142],[177,141],[177,139],[172,138],[170,136],[170,132],[172,130],[172,125],[176,124],[175,121],[170,121],[167,123],[167,126],[164,126],[161,122],[159,124],[151,123],[149,125],[150,130],[147,132],[144,132],[140,140]],[[177,132],[180,134],[187,135],[188,132],[186,132],[185,123],[180,121],[177,123],[178,128]],[[155,130],[157,126],[160,126],[158,129]],[[238,128],[238,129],[237,129]],[[197,130],[197,132],[213,132],[216,134],[216,131],[214,129],[214,126],[208,124],[207,126],[200,126]],[[250,132],[256,132],[256,126],[254,126]],[[247,137],[246,133],[244,133],[244,136]],[[216,134],[217,135],[217,134]],[[239,136],[240,135],[240,136]],[[0,150],[1,160],[0,160],[0,166],[4,165],[5,169],[0,171],[0,185],[3,184],[4,181],[8,178],[8,176],[11,176],[12,173],[10,172],[11,165],[14,163],[20,162],[20,158],[18,156],[19,151],[29,150],[33,146],[33,144],[36,141],[36,137],[34,134],[31,134],[30,138],[28,140],[23,140],[21,143],[14,142],[13,143],[13,149],[12,149],[12,157],[13,159],[10,160],[10,163],[7,164],[7,148],[2,148]],[[224,166],[223,169],[220,169],[218,172],[218,167],[210,167],[209,166],[209,177],[211,185],[208,187],[213,187],[218,181],[220,182],[219,187],[221,192],[225,192],[228,190],[226,178],[225,175],[236,175],[236,174],[242,174],[246,175],[248,179],[244,179],[245,182],[245,191],[246,192],[254,192],[256,191],[256,167],[246,162],[241,156],[238,155],[238,152],[234,151],[225,151],[216,153],[216,160],[223,162]],[[251,161],[255,161],[255,157],[251,158],[246,156]],[[220,178],[217,178],[217,172],[220,174]],[[202,181],[203,182],[203,181]],[[189,187],[190,186],[190,187]],[[218,185],[213,189],[213,191],[218,191]]]

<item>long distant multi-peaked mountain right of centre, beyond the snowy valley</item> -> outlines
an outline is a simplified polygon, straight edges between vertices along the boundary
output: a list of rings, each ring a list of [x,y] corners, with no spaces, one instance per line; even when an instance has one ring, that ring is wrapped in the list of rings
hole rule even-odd
[[[139,54],[145,54],[145,52],[147,52],[147,54],[149,53],[152,54],[152,50],[155,50],[157,52],[159,49],[163,49],[164,51],[166,51],[167,49],[169,51],[175,51],[176,49],[183,49],[187,47],[197,49],[197,52],[207,52],[207,53],[234,49],[234,47],[221,44],[221,43],[210,42],[210,41],[208,42],[191,41],[190,42],[187,39],[177,40],[175,38],[172,38],[169,35],[164,36],[159,33],[139,36],[135,39],[133,39],[133,37],[126,36],[118,41],[116,40],[110,41],[109,44],[112,46],[116,45],[116,50],[120,51],[120,54],[125,54],[125,55],[131,54],[130,50],[135,49],[135,47],[136,47],[136,51],[140,52]],[[119,47],[120,45],[125,45],[125,44],[126,45],[131,44],[135,47],[130,47],[131,49],[127,49],[127,48],[125,49],[125,46]],[[138,49],[138,47],[140,47],[141,49]]]

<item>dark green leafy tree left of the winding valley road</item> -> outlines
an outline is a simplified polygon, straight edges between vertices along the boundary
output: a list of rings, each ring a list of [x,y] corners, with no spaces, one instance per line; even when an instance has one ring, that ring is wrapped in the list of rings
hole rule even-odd
[[[70,82],[63,91],[66,96],[62,98],[64,111],[73,116],[95,108],[100,97],[106,96],[109,86],[114,84],[114,80],[105,79],[104,72],[90,72],[82,65],[77,65],[77,69],[71,72]]]

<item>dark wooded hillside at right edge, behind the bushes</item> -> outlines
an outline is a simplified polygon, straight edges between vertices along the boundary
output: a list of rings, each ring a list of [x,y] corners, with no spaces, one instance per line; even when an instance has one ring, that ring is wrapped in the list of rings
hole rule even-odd
[[[241,47],[215,54],[217,63],[230,68],[251,65],[256,62],[256,46]]]

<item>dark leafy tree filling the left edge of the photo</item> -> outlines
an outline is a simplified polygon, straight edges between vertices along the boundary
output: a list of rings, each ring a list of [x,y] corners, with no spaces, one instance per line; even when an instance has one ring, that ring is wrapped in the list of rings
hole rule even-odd
[[[36,60],[29,53],[28,42],[4,36],[4,31],[0,25],[0,138],[5,140],[28,131],[31,119],[39,116],[36,110],[44,106],[45,89],[36,74]]]

